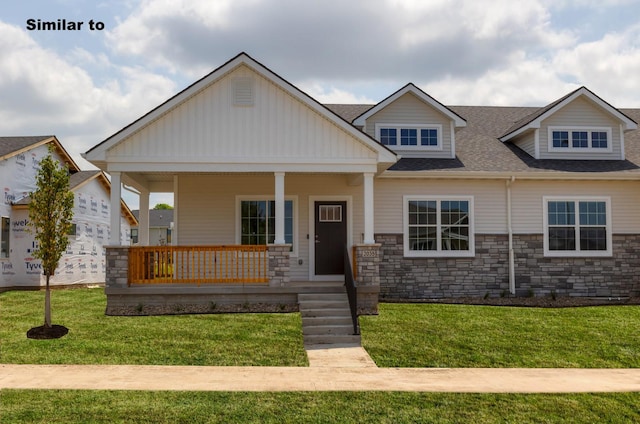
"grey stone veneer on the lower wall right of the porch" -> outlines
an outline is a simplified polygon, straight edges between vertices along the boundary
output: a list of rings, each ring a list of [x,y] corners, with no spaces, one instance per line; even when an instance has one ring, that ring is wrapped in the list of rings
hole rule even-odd
[[[513,237],[517,296],[640,295],[640,235],[614,235],[607,258],[544,257],[542,237]],[[473,258],[405,258],[402,234],[377,234],[381,299],[508,296],[508,236],[475,238]]]

